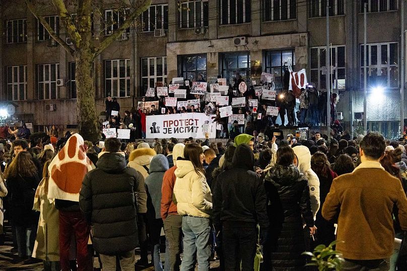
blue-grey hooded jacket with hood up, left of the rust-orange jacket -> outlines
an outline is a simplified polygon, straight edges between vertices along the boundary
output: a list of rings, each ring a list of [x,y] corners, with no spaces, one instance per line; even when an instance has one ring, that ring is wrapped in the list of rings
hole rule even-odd
[[[161,218],[161,187],[165,171],[169,168],[168,159],[157,154],[150,162],[150,175],[146,177],[147,215],[150,218]]]

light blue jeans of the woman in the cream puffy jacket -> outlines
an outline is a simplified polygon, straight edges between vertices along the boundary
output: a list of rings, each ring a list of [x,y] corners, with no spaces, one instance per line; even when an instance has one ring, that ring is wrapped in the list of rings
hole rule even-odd
[[[195,253],[198,261],[198,271],[209,271],[209,258],[211,256],[209,246],[210,229],[209,218],[182,217],[184,257],[181,263],[181,271],[189,271],[195,268]]]

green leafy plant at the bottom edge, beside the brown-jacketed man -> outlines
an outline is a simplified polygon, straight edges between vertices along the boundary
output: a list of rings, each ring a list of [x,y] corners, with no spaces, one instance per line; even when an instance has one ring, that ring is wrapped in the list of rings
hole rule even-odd
[[[336,241],[333,241],[328,246],[324,244],[315,247],[313,252],[305,251],[302,255],[311,257],[311,262],[307,263],[308,266],[317,266],[318,271],[328,271],[335,269],[340,270],[341,264],[344,261],[341,252],[333,249]]]

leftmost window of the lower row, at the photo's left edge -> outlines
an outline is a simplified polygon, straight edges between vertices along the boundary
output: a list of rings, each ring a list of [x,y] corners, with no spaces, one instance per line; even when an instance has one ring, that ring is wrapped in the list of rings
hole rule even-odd
[[[27,66],[7,67],[7,98],[9,101],[27,100]]]

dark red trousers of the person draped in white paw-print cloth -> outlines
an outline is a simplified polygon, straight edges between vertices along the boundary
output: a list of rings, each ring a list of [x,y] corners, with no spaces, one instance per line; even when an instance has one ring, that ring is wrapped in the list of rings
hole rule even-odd
[[[91,266],[88,255],[90,226],[86,223],[81,211],[66,212],[59,210],[59,261],[62,271],[71,270],[69,260],[73,234],[75,234],[77,247],[78,271],[89,270],[89,266]]]

